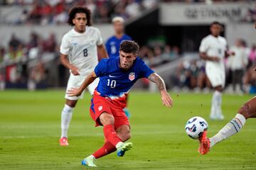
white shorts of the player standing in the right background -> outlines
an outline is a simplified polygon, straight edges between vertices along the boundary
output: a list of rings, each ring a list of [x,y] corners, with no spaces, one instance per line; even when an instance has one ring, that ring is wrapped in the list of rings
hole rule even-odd
[[[217,69],[214,67],[206,67],[206,76],[210,80],[213,87],[225,87],[225,69]]]

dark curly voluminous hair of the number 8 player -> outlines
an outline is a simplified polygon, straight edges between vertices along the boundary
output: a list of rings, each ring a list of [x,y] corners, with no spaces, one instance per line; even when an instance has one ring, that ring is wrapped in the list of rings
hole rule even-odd
[[[85,13],[85,16],[87,19],[86,26],[92,26],[90,9],[82,6],[74,6],[73,8],[70,9],[68,13],[68,24],[70,26],[75,26],[75,24],[73,23],[73,19],[75,18],[76,13]]]

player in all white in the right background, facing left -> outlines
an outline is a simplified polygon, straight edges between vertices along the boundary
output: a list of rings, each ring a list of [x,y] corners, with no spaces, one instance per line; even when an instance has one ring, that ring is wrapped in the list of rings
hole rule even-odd
[[[222,91],[225,86],[224,59],[230,54],[227,49],[227,41],[220,36],[223,27],[218,22],[210,25],[210,35],[203,38],[199,47],[200,57],[206,60],[206,75],[214,88],[210,118],[223,120],[221,111]]]

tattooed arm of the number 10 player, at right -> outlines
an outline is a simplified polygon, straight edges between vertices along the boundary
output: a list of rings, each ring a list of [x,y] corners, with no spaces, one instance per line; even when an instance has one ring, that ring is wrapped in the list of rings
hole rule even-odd
[[[174,101],[171,99],[171,96],[166,91],[166,85],[164,80],[159,76],[159,74],[152,73],[149,75],[148,79],[154,82],[158,87],[161,94],[161,101],[164,106],[171,107],[173,106]]]

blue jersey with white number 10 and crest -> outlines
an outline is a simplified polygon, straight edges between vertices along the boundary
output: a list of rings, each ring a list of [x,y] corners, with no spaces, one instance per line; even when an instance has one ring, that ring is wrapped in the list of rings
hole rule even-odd
[[[148,78],[154,73],[143,60],[137,57],[130,69],[124,71],[119,67],[119,57],[103,59],[95,67],[95,74],[100,82],[95,95],[110,98],[126,104],[127,94],[134,83],[141,78]]]

